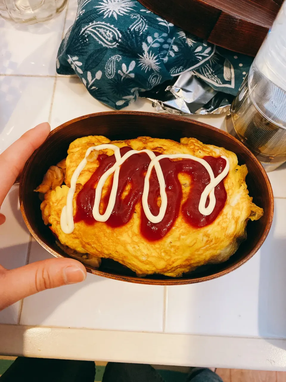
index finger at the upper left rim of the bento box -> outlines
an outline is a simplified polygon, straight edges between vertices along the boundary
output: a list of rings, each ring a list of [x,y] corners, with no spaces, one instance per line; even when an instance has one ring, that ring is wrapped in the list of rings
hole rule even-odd
[[[47,138],[50,133],[47,122],[40,123],[28,130],[16,142],[0,154],[0,206],[26,161]]]

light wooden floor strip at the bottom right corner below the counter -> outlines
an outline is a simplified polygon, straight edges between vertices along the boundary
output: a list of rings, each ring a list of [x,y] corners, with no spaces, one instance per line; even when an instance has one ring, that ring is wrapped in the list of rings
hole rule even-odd
[[[223,382],[286,382],[286,372],[216,369]]]

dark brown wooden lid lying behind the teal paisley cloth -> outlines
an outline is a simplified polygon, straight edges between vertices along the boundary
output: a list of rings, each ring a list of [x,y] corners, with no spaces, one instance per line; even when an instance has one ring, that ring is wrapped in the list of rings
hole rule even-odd
[[[198,37],[255,56],[283,0],[139,0]]]

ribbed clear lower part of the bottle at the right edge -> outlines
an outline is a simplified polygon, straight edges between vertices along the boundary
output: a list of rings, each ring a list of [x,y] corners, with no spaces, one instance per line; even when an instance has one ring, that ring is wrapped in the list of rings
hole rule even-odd
[[[286,92],[252,64],[225,120],[267,172],[286,162]]]

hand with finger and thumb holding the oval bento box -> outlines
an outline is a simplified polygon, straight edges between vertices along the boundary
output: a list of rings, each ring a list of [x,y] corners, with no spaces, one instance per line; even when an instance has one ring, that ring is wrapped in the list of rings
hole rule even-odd
[[[0,154],[0,207],[26,160],[45,141],[49,132],[50,125],[41,123]],[[0,224],[4,222],[5,216],[0,214]],[[74,259],[47,259],[12,270],[0,265],[0,311],[34,293],[81,282],[85,277],[84,265]]]

